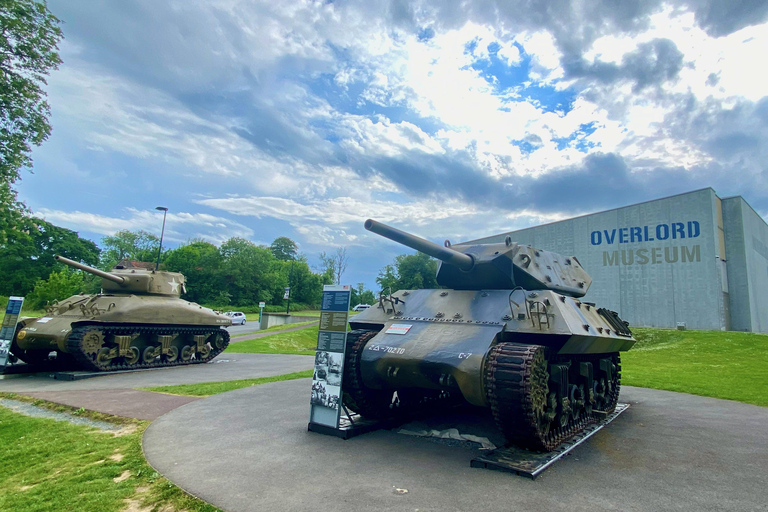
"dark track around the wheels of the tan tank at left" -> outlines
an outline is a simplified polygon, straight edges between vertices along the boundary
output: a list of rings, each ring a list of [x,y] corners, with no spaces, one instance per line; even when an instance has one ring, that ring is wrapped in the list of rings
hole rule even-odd
[[[140,334],[157,334],[168,335],[171,333],[180,333],[187,335],[211,335],[220,333],[223,335],[223,342],[219,347],[212,346],[210,343],[207,345],[210,347],[210,352],[206,357],[199,357],[199,352],[195,352],[194,358],[184,361],[180,356],[175,361],[163,361],[163,357],[156,358],[155,361],[147,363],[143,362],[141,357],[136,363],[128,364],[124,361],[123,357],[116,357],[112,361],[116,361],[114,364],[106,366],[100,366],[94,361],[85,351],[83,347],[83,337],[86,333],[92,330],[98,330],[105,337],[107,335],[133,335],[135,333]],[[72,329],[69,337],[67,338],[67,352],[71,354],[76,363],[83,369],[92,371],[116,371],[116,370],[134,370],[143,368],[164,368],[170,366],[182,366],[189,364],[205,363],[219,355],[229,345],[229,333],[225,329],[221,329],[218,326],[199,326],[199,327],[184,327],[184,326],[155,326],[155,325],[108,325],[108,324],[88,324],[80,325]],[[111,363],[111,362],[110,362]]]

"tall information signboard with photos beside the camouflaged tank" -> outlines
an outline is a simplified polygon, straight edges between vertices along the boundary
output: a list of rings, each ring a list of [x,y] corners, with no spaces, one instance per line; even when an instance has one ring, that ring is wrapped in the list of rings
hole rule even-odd
[[[310,424],[339,428],[350,295],[349,285],[323,287],[310,398]]]

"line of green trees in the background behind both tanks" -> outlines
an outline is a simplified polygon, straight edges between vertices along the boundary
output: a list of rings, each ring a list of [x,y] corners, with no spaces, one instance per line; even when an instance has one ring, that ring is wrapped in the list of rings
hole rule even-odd
[[[160,241],[146,231],[119,231],[101,240],[101,247],[69,229],[35,217],[23,217],[12,240],[0,242],[0,295],[26,295],[33,309],[78,293],[98,293],[101,278],[54,260],[59,254],[109,271],[124,260],[154,262]],[[271,245],[230,238],[216,246],[191,240],[160,255],[160,270],[181,272],[187,279],[184,298],[221,309],[253,310],[259,301],[281,310],[286,287],[292,309],[319,307],[323,285],[341,282],[346,270],[346,248],[321,253],[320,267],[312,269],[296,243],[287,237]],[[380,290],[437,287],[435,260],[424,254],[401,255],[379,273]],[[351,302],[373,304],[377,294],[364,283],[352,288]],[[270,307],[271,306],[271,307]]]

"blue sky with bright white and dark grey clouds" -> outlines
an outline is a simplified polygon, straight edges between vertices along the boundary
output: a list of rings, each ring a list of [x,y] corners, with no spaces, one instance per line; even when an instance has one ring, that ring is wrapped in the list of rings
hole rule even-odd
[[[768,1],[49,0],[53,133],[19,198],[97,243],[437,243],[704,187],[768,214]]]

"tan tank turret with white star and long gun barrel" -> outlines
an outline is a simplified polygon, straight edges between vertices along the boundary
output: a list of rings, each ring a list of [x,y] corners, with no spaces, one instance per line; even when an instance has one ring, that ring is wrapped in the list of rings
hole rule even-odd
[[[72,268],[101,277],[101,289],[105,293],[179,297],[186,291],[184,288],[184,274],[178,272],[146,270],[143,268],[116,268],[112,272],[104,272],[63,256],[56,255],[54,259]]]

